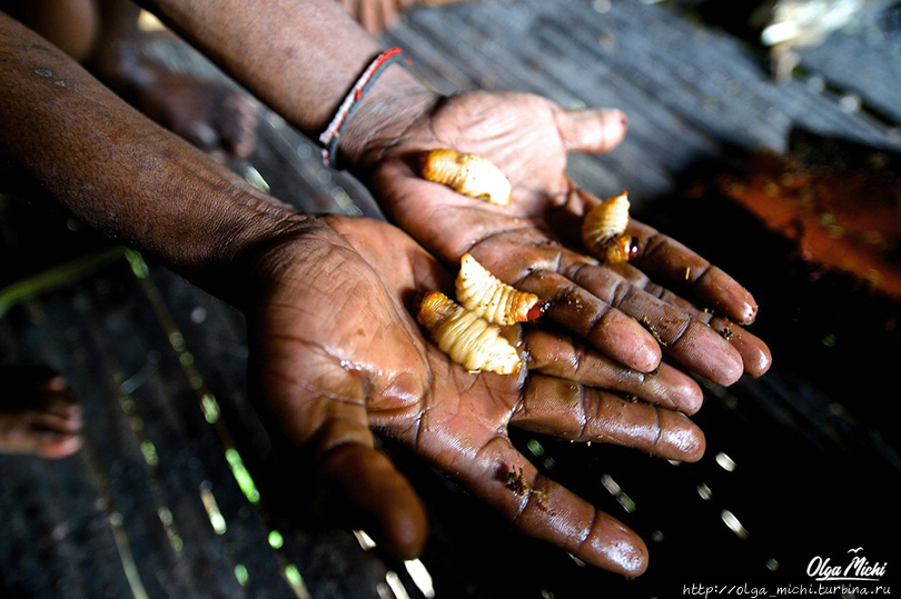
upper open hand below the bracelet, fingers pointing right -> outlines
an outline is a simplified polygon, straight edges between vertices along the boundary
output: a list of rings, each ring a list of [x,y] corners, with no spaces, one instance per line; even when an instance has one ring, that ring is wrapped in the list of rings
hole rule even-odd
[[[640,252],[630,263],[607,267],[583,253],[581,219],[600,200],[565,173],[567,153],[606,151],[624,134],[616,110],[565,110],[532,94],[469,92],[443,99],[395,139],[370,140],[357,171],[389,218],[435,256],[455,264],[471,252],[505,282],[549,300],[546,318],[610,358],[652,371],[662,349],[722,385],[745,371],[762,375],[769,349],[734,323],[752,322],[756,303],[721,269],[635,220],[627,232]],[[435,148],[494,162],[513,184],[512,203],[491,204],[424,180],[420,157]],[[725,328],[731,336],[721,335]]]

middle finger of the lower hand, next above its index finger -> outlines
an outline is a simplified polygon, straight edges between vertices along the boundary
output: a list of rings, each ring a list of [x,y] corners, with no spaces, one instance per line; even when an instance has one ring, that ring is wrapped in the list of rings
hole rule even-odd
[[[529,377],[511,423],[574,441],[603,441],[662,458],[697,461],[704,433],[683,413],[564,379]]]

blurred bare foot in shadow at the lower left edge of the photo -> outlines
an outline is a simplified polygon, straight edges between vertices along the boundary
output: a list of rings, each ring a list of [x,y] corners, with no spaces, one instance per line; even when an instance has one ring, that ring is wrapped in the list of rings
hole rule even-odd
[[[81,407],[46,368],[0,368],[0,453],[58,459],[81,447]]]

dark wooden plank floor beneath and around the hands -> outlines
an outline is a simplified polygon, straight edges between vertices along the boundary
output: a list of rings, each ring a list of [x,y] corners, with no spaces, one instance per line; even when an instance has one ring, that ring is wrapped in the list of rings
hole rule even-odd
[[[752,44],[653,2],[423,8],[386,43],[404,47],[443,91],[515,89],[626,110],[626,142],[574,157],[572,172],[598,194],[628,189],[652,221],[691,210],[677,191],[699,164],[788,151],[793,128],[901,150],[897,30],[836,33],[805,51],[803,74],[782,84]],[[151,51],[175,68],[208,70],[178,47]],[[254,157],[232,167],[305,210],[378,216],[365,190],[325,169],[317,149],[269,113]],[[806,583],[814,556],[835,561],[855,547],[890,572],[901,568],[893,372],[853,359],[836,366],[820,337],[789,342],[811,330],[760,272],[746,274],[771,305],[762,301],[755,330],[778,350],[775,367],[707,389],[700,463],[516,439],[647,540],[651,569],[627,581],[523,539],[390,446],[434,523],[422,562],[384,559],[349,531],[305,522],[307,482],[274,453],[247,402],[239,316],[137,254],[109,258],[109,246],[77,223],[46,218],[22,199],[0,200],[0,272],[58,264],[50,243],[96,268],[12,307],[0,319],[0,363],[49,363],[67,376],[85,406],[87,443],[61,461],[0,456],[0,597],[669,598],[693,583]],[[705,253],[741,264],[744,240],[729,241]],[[17,272],[23,263],[30,271]],[[838,320],[831,330],[841,330]],[[846,355],[880,350],[865,343],[879,331],[859,332],[855,343],[864,342]],[[885,347],[893,353],[883,362],[897,366],[899,346]],[[430,582],[413,576],[420,570]]]

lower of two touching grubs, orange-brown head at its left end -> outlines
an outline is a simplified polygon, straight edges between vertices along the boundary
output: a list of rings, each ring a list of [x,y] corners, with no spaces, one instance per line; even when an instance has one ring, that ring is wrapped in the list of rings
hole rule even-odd
[[[511,375],[523,367],[519,355],[501,336],[501,328],[466,310],[438,291],[423,298],[419,322],[452,360],[472,372]]]

